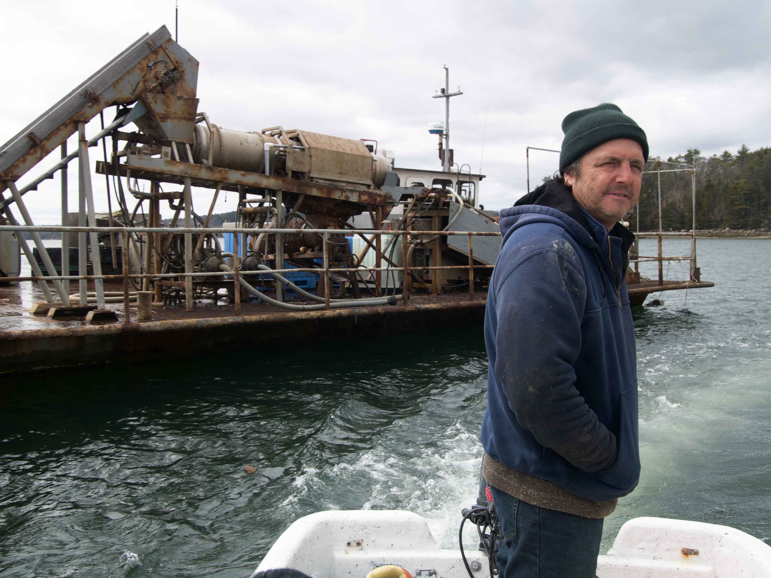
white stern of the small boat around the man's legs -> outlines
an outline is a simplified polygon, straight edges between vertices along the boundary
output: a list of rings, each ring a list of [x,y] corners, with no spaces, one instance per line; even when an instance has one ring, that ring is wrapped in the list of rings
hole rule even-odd
[[[487,554],[466,552],[474,578],[490,578]],[[469,578],[460,550],[439,549],[426,520],[401,510],[332,510],[298,519],[252,576],[291,568],[313,578],[364,578],[393,564],[413,578]],[[771,546],[738,529],[665,518],[629,520],[599,578],[771,578]]]

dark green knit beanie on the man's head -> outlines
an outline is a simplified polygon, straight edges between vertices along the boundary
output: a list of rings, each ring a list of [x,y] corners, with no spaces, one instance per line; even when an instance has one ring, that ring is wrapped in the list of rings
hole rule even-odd
[[[577,110],[565,116],[562,121],[562,151],[560,170],[578,160],[595,146],[613,139],[632,139],[640,143],[642,156],[648,162],[648,138],[645,131],[637,126],[621,109],[610,102],[604,102],[591,109]]]

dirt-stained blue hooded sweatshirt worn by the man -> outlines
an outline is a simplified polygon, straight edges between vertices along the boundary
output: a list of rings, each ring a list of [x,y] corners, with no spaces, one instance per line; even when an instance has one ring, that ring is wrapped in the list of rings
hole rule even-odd
[[[625,274],[634,240],[557,181],[500,213],[482,443],[510,469],[596,502],[640,476],[637,358]]]

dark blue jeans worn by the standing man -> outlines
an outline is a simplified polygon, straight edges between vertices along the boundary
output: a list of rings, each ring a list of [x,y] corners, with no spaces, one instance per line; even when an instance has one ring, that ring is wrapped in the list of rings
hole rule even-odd
[[[491,489],[503,533],[498,578],[594,578],[602,518],[531,506]]]

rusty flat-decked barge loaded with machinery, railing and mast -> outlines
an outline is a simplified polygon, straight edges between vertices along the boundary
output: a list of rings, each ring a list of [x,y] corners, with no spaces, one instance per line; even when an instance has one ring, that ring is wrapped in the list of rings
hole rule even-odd
[[[484,176],[453,163],[449,97],[461,92],[449,91],[449,72],[435,96],[446,122],[429,125],[443,170],[411,170],[369,139],[217,126],[198,109],[197,71],[161,27],[0,147],[0,375],[481,326],[500,232],[479,204]],[[56,150],[61,160],[19,184]],[[36,226],[25,195],[57,174],[62,225]],[[209,200],[201,214],[194,188]],[[237,195],[236,220],[211,227],[224,192]],[[59,234],[59,247],[42,233]],[[699,281],[695,240],[691,271],[658,282],[631,271],[630,295],[641,304],[711,286]]]

